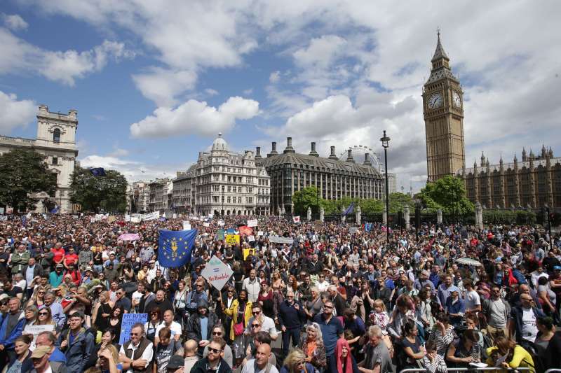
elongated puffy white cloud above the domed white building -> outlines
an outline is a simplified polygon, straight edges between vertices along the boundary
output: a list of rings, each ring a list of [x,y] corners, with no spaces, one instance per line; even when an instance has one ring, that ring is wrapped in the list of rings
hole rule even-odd
[[[212,136],[226,132],[236,119],[250,119],[259,113],[259,102],[243,97],[230,97],[215,108],[205,101],[190,99],[177,108],[156,108],[153,115],[130,125],[134,137],[166,137],[177,134]]]

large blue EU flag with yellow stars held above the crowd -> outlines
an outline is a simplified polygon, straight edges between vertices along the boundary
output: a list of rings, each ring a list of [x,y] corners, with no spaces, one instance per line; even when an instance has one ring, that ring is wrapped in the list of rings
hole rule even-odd
[[[181,267],[191,262],[197,230],[160,230],[158,262],[162,267]]]

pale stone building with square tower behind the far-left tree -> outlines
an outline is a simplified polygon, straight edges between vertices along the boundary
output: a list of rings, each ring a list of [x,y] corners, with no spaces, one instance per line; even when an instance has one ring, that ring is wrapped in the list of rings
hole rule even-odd
[[[51,113],[48,106],[39,105],[37,114],[36,139],[22,139],[20,137],[0,136],[0,154],[13,149],[35,150],[46,156],[48,168],[57,175],[57,189],[55,195],[49,196],[45,192],[38,193],[36,198],[36,212],[44,213],[46,206],[43,201],[60,206],[60,213],[72,213],[70,202],[70,183],[74,172],[74,164],[78,149],[76,148],[76,129],[78,128],[78,112],[69,110],[68,114]]]

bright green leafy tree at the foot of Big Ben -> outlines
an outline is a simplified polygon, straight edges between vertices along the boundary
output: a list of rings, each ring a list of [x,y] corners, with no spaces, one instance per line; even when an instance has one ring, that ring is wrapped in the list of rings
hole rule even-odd
[[[428,209],[442,209],[444,213],[463,215],[474,209],[466,197],[464,181],[456,176],[445,176],[434,183],[427,183],[419,192],[419,199]]]

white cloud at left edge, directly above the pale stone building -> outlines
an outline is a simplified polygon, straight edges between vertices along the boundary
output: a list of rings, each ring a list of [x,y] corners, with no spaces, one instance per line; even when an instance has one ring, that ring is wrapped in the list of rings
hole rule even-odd
[[[15,94],[0,91],[0,132],[8,134],[15,127],[26,127],[35,118],[36,104],[20,100]]]

